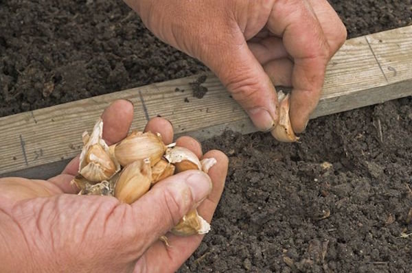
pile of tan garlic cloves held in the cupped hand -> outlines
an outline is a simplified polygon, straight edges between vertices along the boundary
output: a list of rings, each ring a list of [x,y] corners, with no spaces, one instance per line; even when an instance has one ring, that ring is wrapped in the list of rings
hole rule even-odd
[[[131,204],[169,176],[189,169],[207,173],[216,164],[215,158],[199,161],[196,154],[175,143],[165,145],[160,134],[133,131],[119,143],[108,146],[102,132],[100,119],[90,135],[83,133],[79,171],[72,180],[80,195],[112,195]],[[170,231],[188,236],[209,230],[209,223],[193,209]]]

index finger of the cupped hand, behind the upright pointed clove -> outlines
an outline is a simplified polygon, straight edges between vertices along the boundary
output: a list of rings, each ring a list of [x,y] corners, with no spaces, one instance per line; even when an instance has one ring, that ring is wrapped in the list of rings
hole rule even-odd
[[[133,120],[133,104],[125,99],[118,99],[102,113],[103,139],[108,145],[126,137]],[[49,181],[60,187],[63,192],[76,193],[77,187],[71,185],[73,176],[78,173],[80,156],[73,158],[62,171],[61,175],[50,178]]]

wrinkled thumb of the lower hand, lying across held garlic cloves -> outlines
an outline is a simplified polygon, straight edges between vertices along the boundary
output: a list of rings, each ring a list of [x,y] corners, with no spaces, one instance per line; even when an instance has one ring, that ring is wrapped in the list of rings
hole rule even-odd
[[[117,245],[129,247],[122,251],[135,253],[137,259],[195,204],[204,200],[211,187],[209,176],[202,171],[183,171],[157,183],[131,206],[118,206],[106,225],[122,223]]]

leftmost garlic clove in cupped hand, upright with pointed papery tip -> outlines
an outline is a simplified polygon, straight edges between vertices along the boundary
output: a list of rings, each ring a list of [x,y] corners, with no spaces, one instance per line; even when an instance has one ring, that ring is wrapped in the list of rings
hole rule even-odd
[[[103,121],[100,119],[90,137],[87,132],[83,134],[83,141],[86,143],[80,154],[79,174],[91,183],[108,180],[120,169],[109,154],[108,146],[102,139],[102,132]]]

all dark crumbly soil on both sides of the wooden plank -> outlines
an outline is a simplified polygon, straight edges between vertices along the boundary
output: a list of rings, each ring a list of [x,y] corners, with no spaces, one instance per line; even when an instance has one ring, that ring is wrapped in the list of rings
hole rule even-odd
[[[350,38],[412,23],[411,0],[331,2]],[[206,70],[121,1],[0,0],[0,18],[0,117]],[[293,144],[232,132],[203,143],[229,156],[229,174],[179,272],[412,271],[412,98],[306,131]]]

